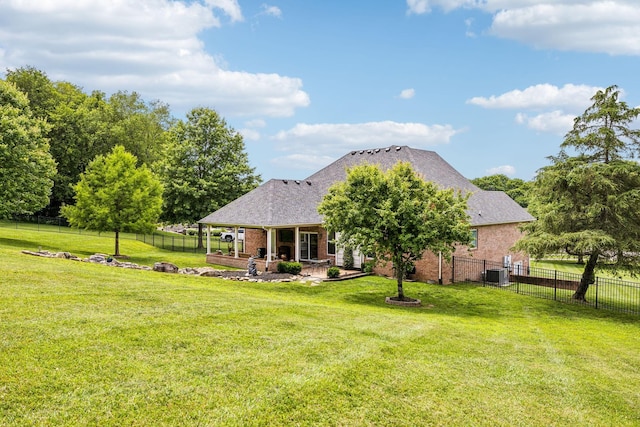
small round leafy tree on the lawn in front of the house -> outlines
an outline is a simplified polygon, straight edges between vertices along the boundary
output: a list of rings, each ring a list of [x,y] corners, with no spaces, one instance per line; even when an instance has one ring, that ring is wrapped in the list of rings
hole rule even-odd
[[[466,200],[424,181],[409,163],[386,172],[364,164],[329,188],[318,211],[330,232],[340,232],[338,244],[393,264],[403,301],[404,276],[425,251],[450,259],[456,244],[471,242]]]

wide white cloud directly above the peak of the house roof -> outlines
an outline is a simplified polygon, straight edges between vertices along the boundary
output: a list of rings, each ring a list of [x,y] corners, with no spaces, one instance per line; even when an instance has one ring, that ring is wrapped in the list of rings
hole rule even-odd
[[[300,156],[295,157],[296,161],[301,162],[297,167],[306,169],[303,164],[309,164],[313,166],[311,169],[317,169],[318,165],[328,164],[349,150],[386,147],[389,144],[426,148],[447,144],[460,132],[461,129],[454,129],[451,125],[393,121],[355,124],[299,123],[289,130],[278,132],[272,139],[276,141],[278,150],[292,152],[276,159],[277,162],[291,162],[295,156]],[[303,162],[302,159],[306,160]]]

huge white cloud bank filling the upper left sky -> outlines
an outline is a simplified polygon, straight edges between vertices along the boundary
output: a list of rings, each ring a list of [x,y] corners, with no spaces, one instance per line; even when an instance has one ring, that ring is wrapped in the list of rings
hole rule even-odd
[[[0,69],[32,65],[89,90],[137,91],[172,108],[286,117],[309,104],[299,78],[229,70],[198,35],[236,0],[25,0],[0,2]],[[80,36],[81,35],[81,36]]]

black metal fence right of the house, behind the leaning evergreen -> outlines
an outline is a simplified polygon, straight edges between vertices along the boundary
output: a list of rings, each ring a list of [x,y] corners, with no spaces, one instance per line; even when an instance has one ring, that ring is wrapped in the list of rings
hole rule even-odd
[[[452,281],[482,283],[518,294],[576,303],[573,294],[580,283],[580,274],[530,267],[514,263],[473,258],[453,258]],[[596,277],[589,286],[583,304],[594,308],[640,314],[640,283],[615,278]]]

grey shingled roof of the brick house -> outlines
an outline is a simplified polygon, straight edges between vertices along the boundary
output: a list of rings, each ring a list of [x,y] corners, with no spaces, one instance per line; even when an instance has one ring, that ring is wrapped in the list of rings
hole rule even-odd
[[[320,225],[317,206],[331,184],[346,178],[347,168],[368,162],[387,170],[399,161],[411,163],[425,180],[441,188],[471,192],[468,213],[473,226],[534,219],[505,193],[473,185],[434,151],[393,146],[352,151],[304,180],[269,180],[199,222],[247,228]]]

